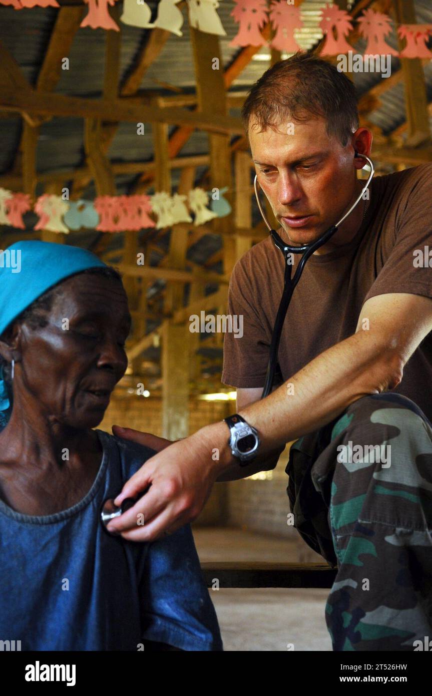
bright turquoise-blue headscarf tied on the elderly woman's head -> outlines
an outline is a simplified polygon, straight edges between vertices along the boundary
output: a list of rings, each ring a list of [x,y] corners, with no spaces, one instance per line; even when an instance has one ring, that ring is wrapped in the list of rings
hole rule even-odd
[[[87,268],[107,267],[78,246],[16,242],[0,251],[0,335],[50,287]],[[0,429],[10,418],[10,401],[0,367]]]

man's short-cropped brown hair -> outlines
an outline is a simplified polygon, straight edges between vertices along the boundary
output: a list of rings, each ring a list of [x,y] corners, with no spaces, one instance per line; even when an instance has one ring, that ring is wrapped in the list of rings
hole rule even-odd
[[[280,122],[304,122],[311,116],[325,118],[328,135],[336,136],[344,147],[360,125],[351,80],[335,65],[305,52],[266,70],[241,109],[246,133],[251,120],[263,132]]]

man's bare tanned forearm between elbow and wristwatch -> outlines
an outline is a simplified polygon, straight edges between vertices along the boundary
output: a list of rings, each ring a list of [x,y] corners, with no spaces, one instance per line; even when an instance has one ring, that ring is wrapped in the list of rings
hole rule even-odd
[[[314,358],[265,399],[239,410],[239,414],[257,428],[262,440],[260,457],[265,459],[266,454],[285,443],[323,427],[360,397],[392,389],[399,381],[397,354],[388,347],[384,349],[380,338],[358,331]],[[229,480],[230,470],[238,472],[239,468],[223,442],[226,430],[224,422],[207,426],[210,441],[217,439],[221,447],[216,464],[218,480]],[[253,473],[253,468],[251,462],[243,475]]]

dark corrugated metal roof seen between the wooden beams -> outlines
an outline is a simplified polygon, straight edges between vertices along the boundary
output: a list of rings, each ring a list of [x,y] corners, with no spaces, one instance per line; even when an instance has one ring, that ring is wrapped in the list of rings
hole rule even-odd
[[[153,16],[157,13],[157,2],[148,2],[152,8]],[[303,29],[296,32],[296,39],[303,48],[310,48],[319,40],[321,32],[317,27],[320,19],[320,9],[325,6],[325,1],[305,0],[301,6],[303,17]],[[230,13],[234,7],[232,0],[221,0],[218,14],[227,32],[226,37],[221,38],[221,53],[223,63],[229,64],[238,52],[238,47],[231,47],[230,41],[237,33],[237,24]],[[430,0],[417,0],[415,3],[417,22],[432,22],[432,6]],[[10,52],[21,66],[25,76],[31,84],[35,84],[38,70],[43,60],[45,50],[49,42],[49,36],[54,26],[57,11],[54,8],[31,8],[25,10],[13,10],[11,7],[0,7],[0,40],[8,47]],[[145,73],[141,88],[144,90],[160,89],[158,81],[163,81],[173,86],[182,88],[187,93],[195,90],[195,74],[193,71],[193,57],[191,52],[191,40],[189,25],[186,18],[186,9],[183,9],[184,24],[183,36],[170,35],[166,45],[156,61]],[[121,24],[122,49],[121,49],[121,76],[124,77],[134,61],[145,33],[127,24]],[[56,92],[65,95],[83,97],[99,97],[102,93],[104,75],[104,39],[106,32],[103,29],[79,29],[69,52],[70,69],[63,70],[61,79],[56,86]],[[397,47],[397,38],[393,31],[387,38],[390,45]],[[355,50],[361,52],[365,47],[364,40],[359,40]],[[261,54],[268,54],[269,49],[263,47]],[[256,58],[257,56],[255,56]],[[253,59],[241,72],[232,84],[232,90],[245,91],[262,73],[269,63]],[[392,70],[399,68],[398,58],[392,58]],[[426,86],[429,97],[432,92],[432,64],[425,68]],[[374,73],[354,73],[353,79],[359,96],[366,93],[371,86],[381,81],[381,77]],[[169,90],[163,93],[170,94]],[[383,129],[385,134],[391,132],[405,120],[405,100],[403,84],[400,83],[387,90],[380,97],[381,106],[374,110],[369,118],[371,122]],[[239,113],[232,111],[232,113]],[[6,172],[13,164],[17,145],[19,143],[21,129],[20,118],[0,119],[0,171]],[[207,133],[195,131],[189,141],[182,148],[180,155],[205,154],[208,150]],[[145,125],[145,134],[138,140],[136,137],[136,125],[133,123],[120,123],[109,150],[109,157],[113,161],[137,161],[152,158],[151,126]],[[45,122],[40,129],[38,141],[37,166],[38,171],[45,172],[51,169],[73,168],[83,164],[83,122],[79,118],[53,118]],[[205,171],[198,168],[197,176]],[[136,179],[133,175],[116,177],[119,193],[126,193],[131,182]],[[177,187],[179,171],[173,171],[173,188]],[[252,173],[251,173],[252,182]],[[41,192],[38,190],[38,193]],[[86,196],[92,198],[95,195],[91,184]],[[254,207],[254,222],[258,221],[257,207]],[[3,228],[4,230],[4,228]],[[75,235],[82,239],[82,235]],[[196,259],[204,260],[214,252],[216,239],[210,244],[209,237],[195,249]],[[72,235],[71,235],[72,242]],[[82,242],[81,242],[82,243]],[[113,242],[114,244],[114,242]],[[205,244],[208,244],[207,256]],[[220,244],[220,242],[219,242]],[[203,246],[204,245],[204,246]]]

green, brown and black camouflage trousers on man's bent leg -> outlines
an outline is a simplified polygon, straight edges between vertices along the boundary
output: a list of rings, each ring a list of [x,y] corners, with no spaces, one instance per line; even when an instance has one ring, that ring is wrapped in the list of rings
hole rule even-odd
[[[326,603],[333,650],[429,646],[432,424],[424,413],[396,393],[361,397],[291,445],[286,470],[298,532],[337,567]]]

